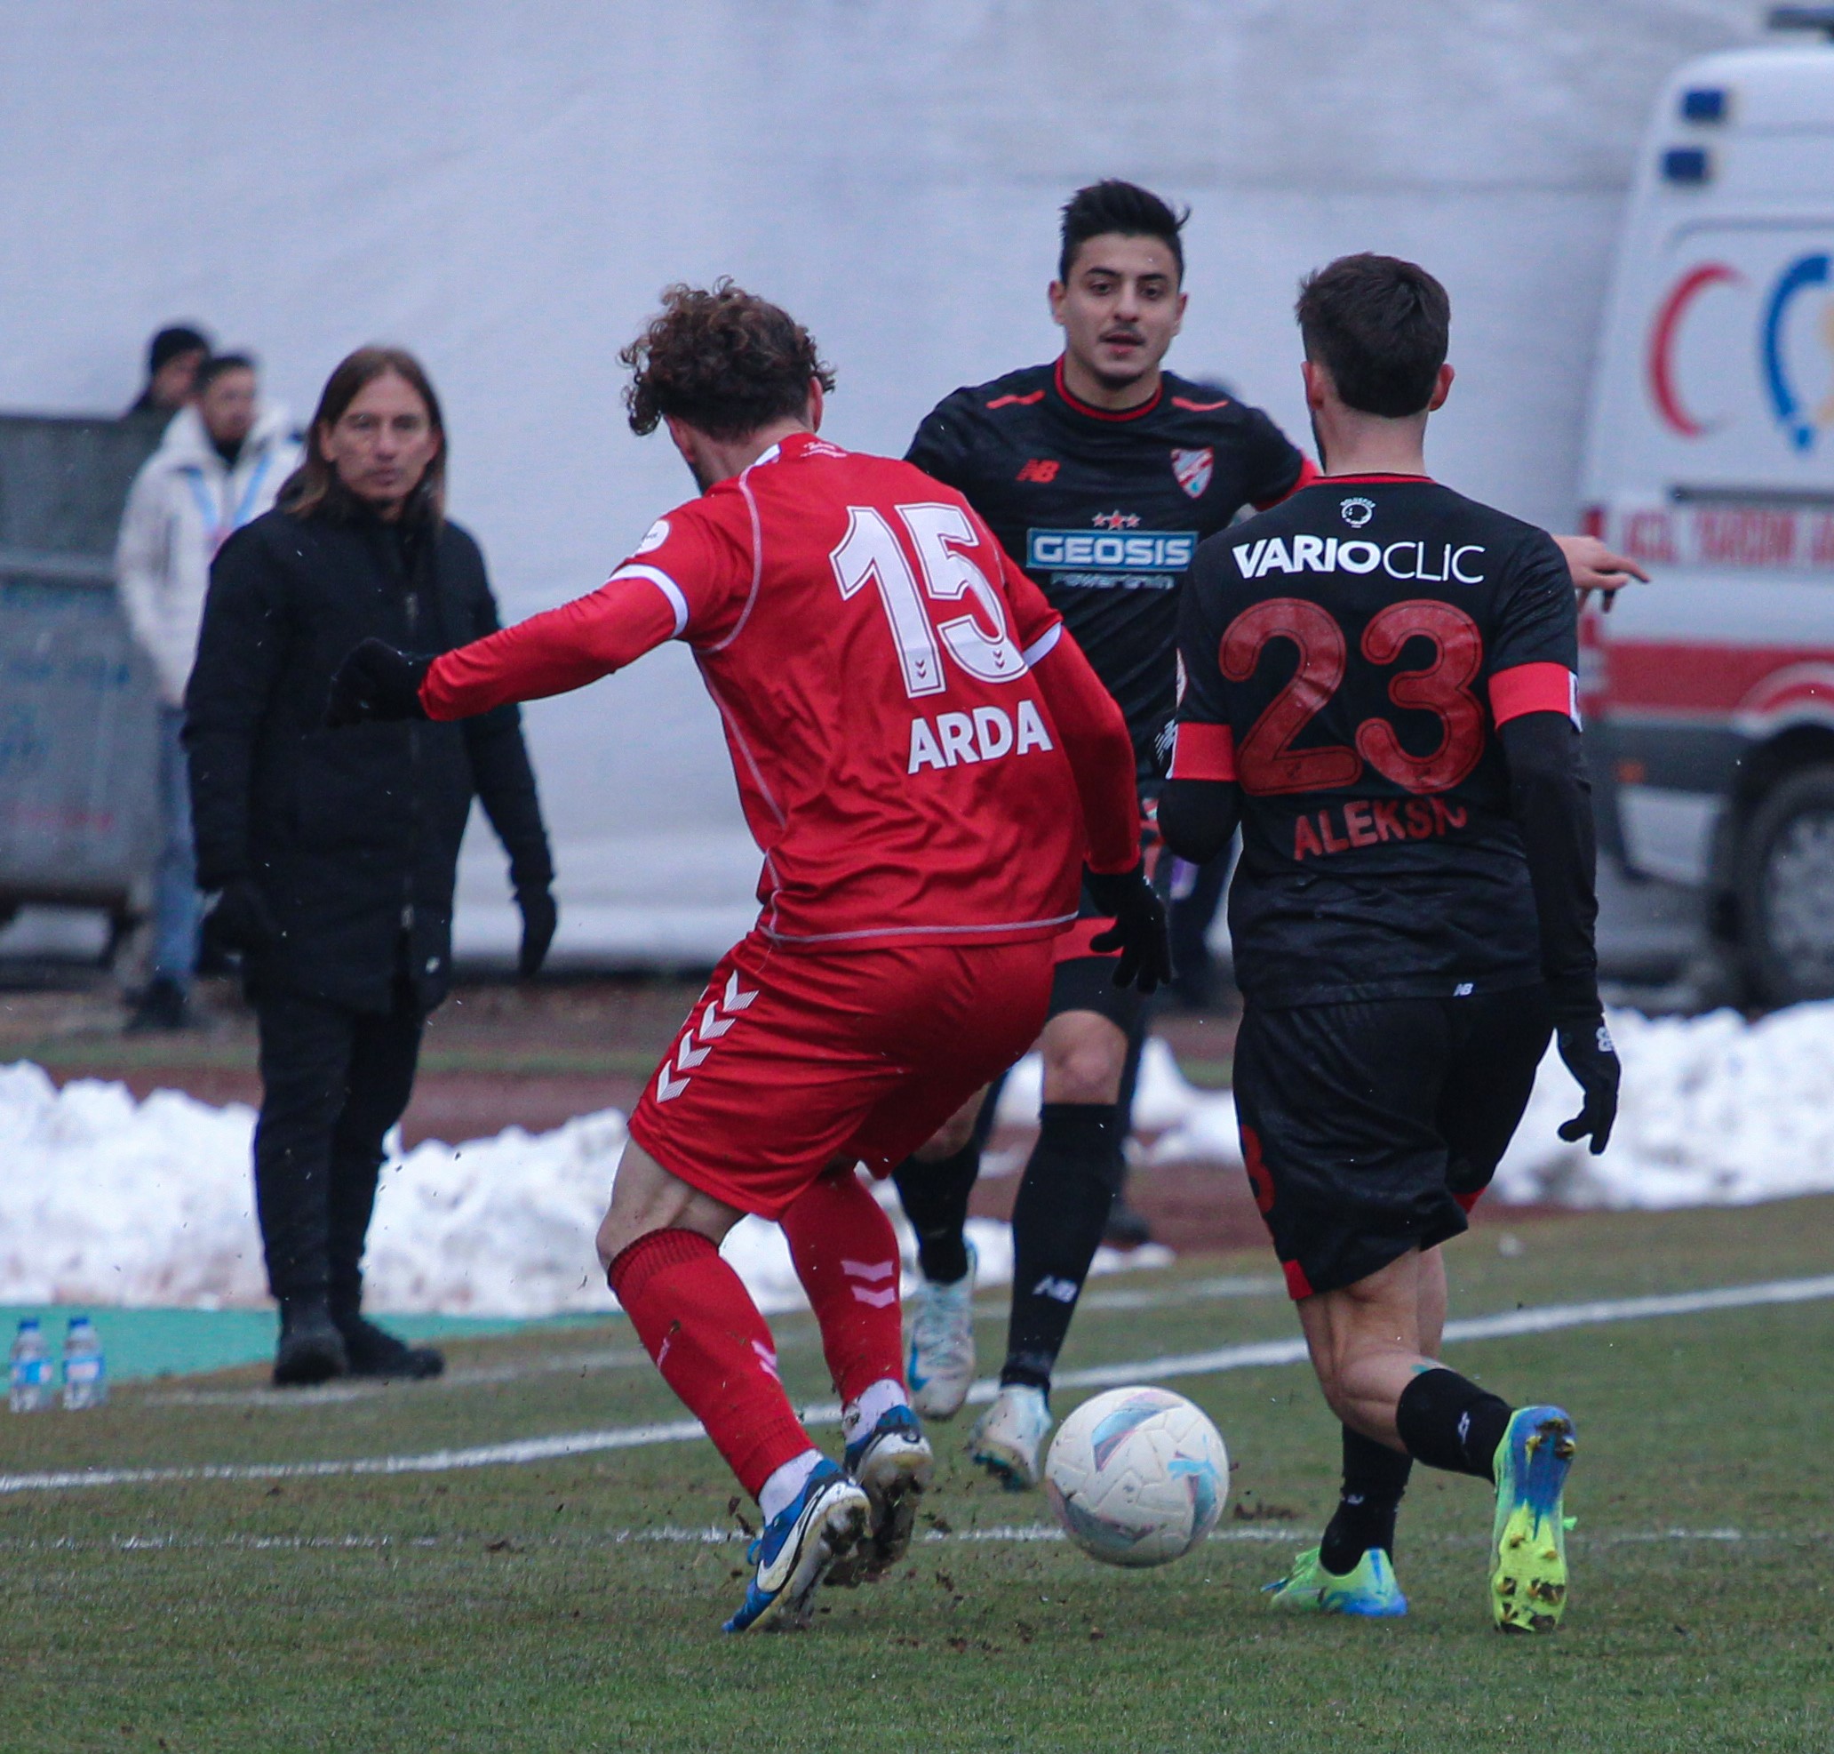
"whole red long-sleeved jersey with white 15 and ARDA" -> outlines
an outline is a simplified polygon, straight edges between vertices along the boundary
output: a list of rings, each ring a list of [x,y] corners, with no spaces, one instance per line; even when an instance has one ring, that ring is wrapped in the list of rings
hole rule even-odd
[[[658,517],[591,596],[436,659],[435,719],[686,640],[765,866],[759,928],[827,950],[1020,943],[1084,857],[1137,859],[1119,708],[952,488],[812,433]]]

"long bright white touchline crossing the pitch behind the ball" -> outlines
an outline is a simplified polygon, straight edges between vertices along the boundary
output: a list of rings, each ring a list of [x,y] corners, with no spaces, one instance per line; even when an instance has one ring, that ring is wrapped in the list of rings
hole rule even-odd
[[[1764,1304],[1819,1303],[1834,1297],[1834,1273],[1816,1279],[1770,1279],[1762,1284],[1728,1284],[1707,1292],[1671,1292],[1654,1297],[1612,1297],[1594,1303],[1553,1303],[1539,1310],[1508,1310],[1471,1316],[1445,1325],[1447,1345],[1467,1339],[1509,1339],[1520,1334],[1553,1334],[1614,1321],[1654,1321],[1663,1316],[1702,1316],[1715,1310],[1750,1310]],[[1174,1352],[1121,1365],[1064,1371],[1062,1389],[1106,1389],[1137,1382],[1185,1376],[1216,1376],[1302,1363],[1302,1339],[1262,1339],[1214,1352]],[[970,1402],[990,1402],[998,1383],[979,1382]],[[840,1418],[834,1402],[803,1409],[803,1424],[831,1426]],[[605,1449],[638,1449],[647,1444],[686,1444],[706,1433],[699,1420],[679,1418],[653,1426],[618,1426],[611,1431],[574,1431],[559,1437],[515,1438],[468,1449],[435,1449],[427,1455],[370,1455],[334,1462],[205,1462],[191,1468],[84,1468],[68,1473],[0,1473],[0,1493],[66,1492],[77,1486],[163,1486],[185,1481],[299,1481],[358,1473],[451,1473],[460,1468],[495,1468],[517,1462],[550,1462]]]

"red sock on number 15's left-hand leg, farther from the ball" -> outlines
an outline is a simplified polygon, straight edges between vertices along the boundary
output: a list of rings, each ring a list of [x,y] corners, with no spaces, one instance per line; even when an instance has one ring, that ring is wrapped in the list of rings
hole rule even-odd
[[[611,1290],[662,1380],[686,1402],[756,1499],[812,1449],[778,1380],[752,1293],[699,1231],[649,1231],[611,1262]]]

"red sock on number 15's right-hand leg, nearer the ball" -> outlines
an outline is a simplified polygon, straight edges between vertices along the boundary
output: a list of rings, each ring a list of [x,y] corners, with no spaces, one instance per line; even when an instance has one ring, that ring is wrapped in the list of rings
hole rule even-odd
[[[822,1176],[778,1222],[822,1325],[822,1352],[842,1404],[886,1378],[902,1383],[899,1240],[853,1165]]]

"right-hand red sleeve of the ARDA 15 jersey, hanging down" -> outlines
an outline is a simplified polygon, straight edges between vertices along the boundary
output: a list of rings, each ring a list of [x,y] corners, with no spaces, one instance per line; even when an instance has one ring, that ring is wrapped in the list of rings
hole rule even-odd
[[[1141,809],[1128,721],[1082,648],[1066,633],[1064,618],[1005,549],[998,554],[1012,631],[1027,668],[1038,677],[1038,692],[1051,710],[1077,782],[1089,870],[1132,871],[1141,859]]]

